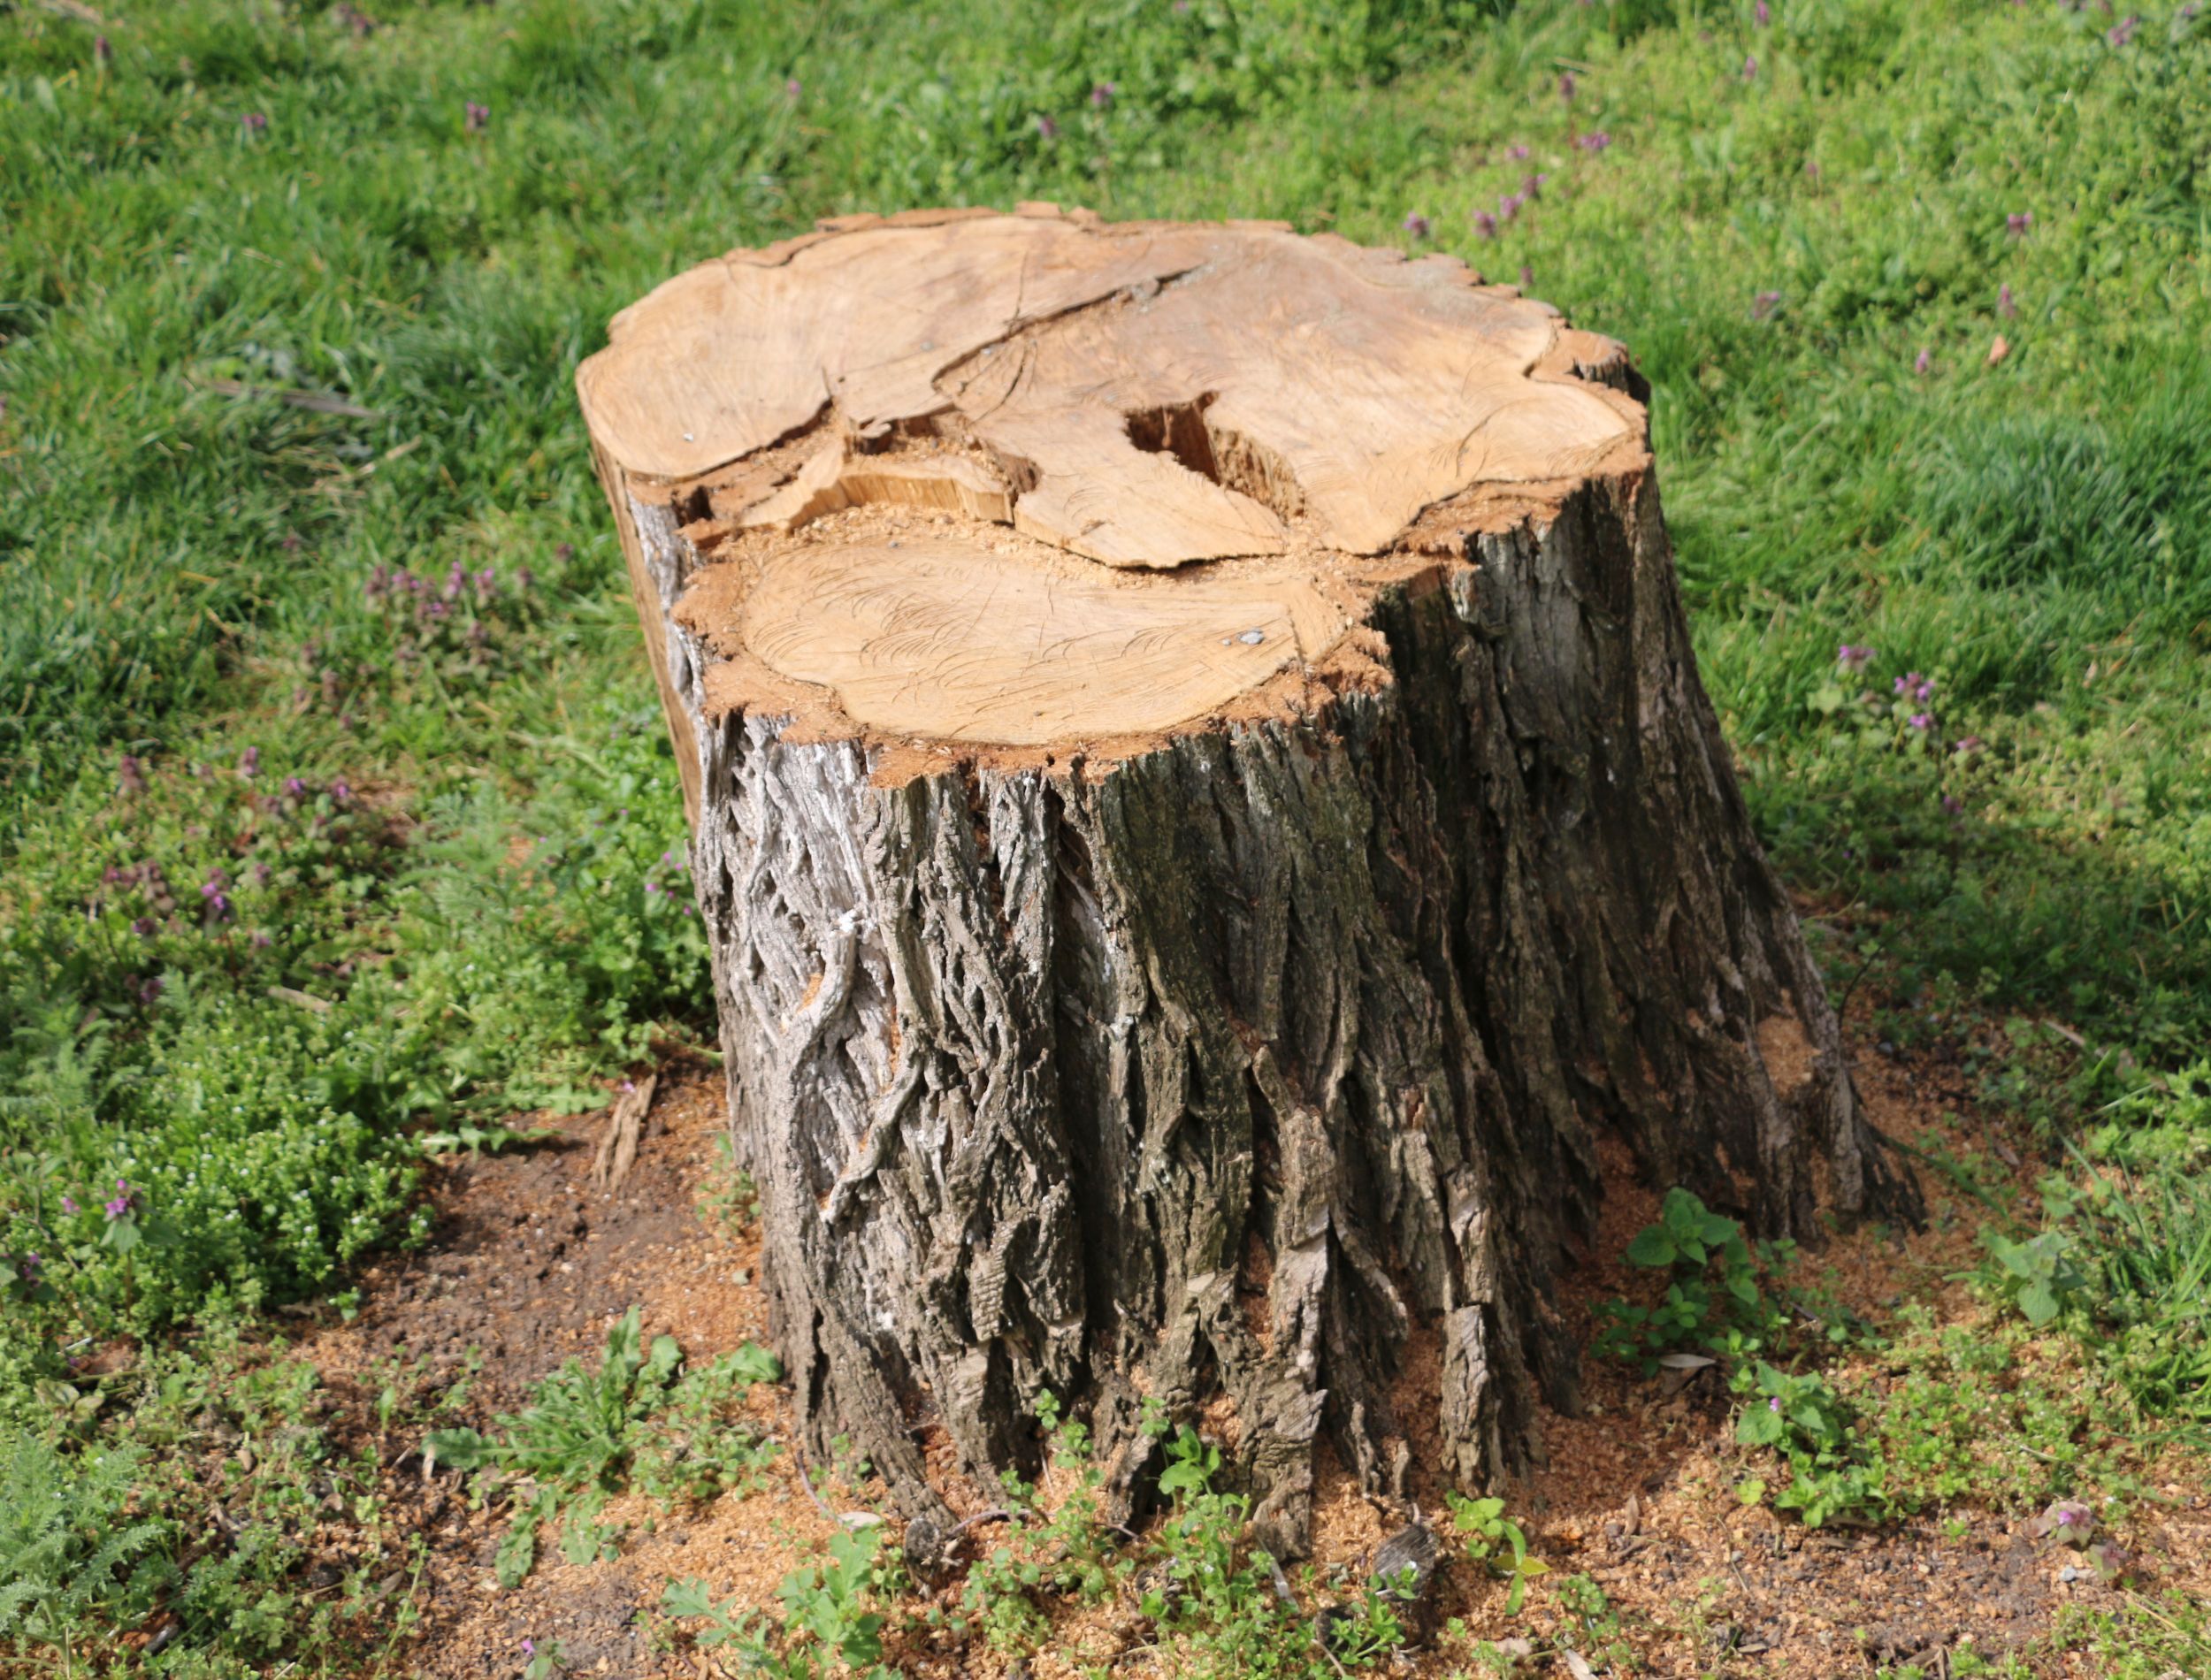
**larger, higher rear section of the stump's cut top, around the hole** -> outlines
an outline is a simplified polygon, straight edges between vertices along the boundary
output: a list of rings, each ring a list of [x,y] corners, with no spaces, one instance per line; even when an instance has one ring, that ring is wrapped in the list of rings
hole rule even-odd
[[[577,376],[628,471],[683,480],[820,427],[957,416],[1024,528],[1112,566],[1380,553],[1475,484],[1572,480],[1641,411],[1545,365],[1563,323],[1461,263],[1271,225],[984,214],[814,234],[624,309]],[[1227,473],[1141,447],[1203,411]],[[1156,429],[1156,427],[1154,427]]]

